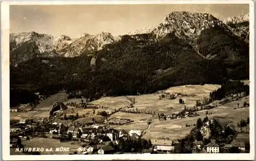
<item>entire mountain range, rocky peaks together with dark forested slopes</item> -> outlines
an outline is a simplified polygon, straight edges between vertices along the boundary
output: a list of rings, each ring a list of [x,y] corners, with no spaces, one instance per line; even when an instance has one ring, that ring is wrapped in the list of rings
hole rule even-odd
[[[65,88],[74,97],[79,91],[95,99],[246,79],[248,42],[247,15],[221,21],[193,12],[169,13],[155,27],[122,36],[10,34],[12,96],[20,96],[16,89],[24,84],[30,91]]]

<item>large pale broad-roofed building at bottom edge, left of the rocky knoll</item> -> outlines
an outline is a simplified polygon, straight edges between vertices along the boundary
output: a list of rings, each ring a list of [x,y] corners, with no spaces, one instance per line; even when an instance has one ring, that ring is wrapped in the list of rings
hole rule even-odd
[[[174,150],[174,146],[172,146],[172,141],[170,140],[154,140],[152,142],[154,146],[153,150],[161,153],[170,153]]]

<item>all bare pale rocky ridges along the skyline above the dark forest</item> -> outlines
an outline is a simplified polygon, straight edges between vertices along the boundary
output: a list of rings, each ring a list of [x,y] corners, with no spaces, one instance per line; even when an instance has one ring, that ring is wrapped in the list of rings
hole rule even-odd
[[[186,40],[196,51],[196,39],[205,29],[221,28],[227,33],[239,36],[249,42],[249,15],[228,17],[221,21],[207,13],[172,12],[155,27],[129,32],[128,35],[149,34],[159,40],[168,33],[175,33],[180,39]],[[101,50],[103,45],[117,42],[121,36],[101,32],[96,35],[84,33],[81,37],[71,39],[66,35],[54,37],[49,34],[12,33],[10,34],[11,63],[17,64],[33,57],[74,57],[81,54],[91,54]]]

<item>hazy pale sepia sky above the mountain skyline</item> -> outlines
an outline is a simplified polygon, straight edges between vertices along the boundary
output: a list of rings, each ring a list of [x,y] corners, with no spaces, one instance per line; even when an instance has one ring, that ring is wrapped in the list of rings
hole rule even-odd
[[[10,33],[35,31],[71,38],[100,32],[124,35],[156,26],[173,11],[209,13],[224,20],[249,13],[249,5],[15,5],[10,6]]]

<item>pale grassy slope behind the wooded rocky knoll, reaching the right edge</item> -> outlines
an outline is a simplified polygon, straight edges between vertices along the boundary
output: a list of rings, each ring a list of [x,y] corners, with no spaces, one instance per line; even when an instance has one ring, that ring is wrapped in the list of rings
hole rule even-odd
[[[234,125],[237,125],[241,119],[246,119],[249,117],[249,107],[240,108],[238,110],[234,110],[233,107],[237,105],[237,103],[242,105],[242,103],[248,100],[248,98],[249,97],[245,97],[242,100],[230,102],[220,107],[210,109],[208,112],[212,112],[212,114],[208,114],[207,117],[209,119],[218,119],[221,122],[232,122]],[[193,126],[186,127],[186,124],[196,124],[198,118],[205,118],[205,112],[206,110],[198,111],[197,113],[200,114],[198,117],[168,120],[164,122],[154,122],[152,123],[151,128],[147,130],[146,134],[143,135],[143,137],[145,139],[181,139],[193,128]]]

